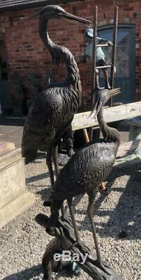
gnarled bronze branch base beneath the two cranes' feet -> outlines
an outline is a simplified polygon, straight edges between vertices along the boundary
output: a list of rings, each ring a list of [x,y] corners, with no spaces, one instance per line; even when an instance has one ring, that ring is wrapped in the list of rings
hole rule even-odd
[[[44,228],[48,228],[49,218],[43,214],[38,214],[36,216],[36,222],[42,225]],[[71,222],[71,216],[69,214],[68,208],[66,208],[64,217],[61,216],[57,221],[57,226],[55,228],[55,238],[47,244],[47,249],[43,255],[43,270],[45,279],[50,280],[52,277],[52,270],[56,270],[57,266],[66,267],[67,263],[57,263],[53,260],[54,253],[61,253],[61,251],[69,250],[71,254],[77,253],[80,255],[80,261],[77,261],[77,265],[80,266],[84,272],[87,272],[92,279],[95,280],[121,280],[121,277],[117,275],[114,270],[103,262],[104,267],[107,269],[107,273],[103,272],[103,269],[98,266],[96,260],[96,254],[91,253],[90,249],[84,244],[78,244],[75,240],[75,232],[73,231],[73,225]],[[86,262],[81,264],[81,255],[85,253],[88,254]]]

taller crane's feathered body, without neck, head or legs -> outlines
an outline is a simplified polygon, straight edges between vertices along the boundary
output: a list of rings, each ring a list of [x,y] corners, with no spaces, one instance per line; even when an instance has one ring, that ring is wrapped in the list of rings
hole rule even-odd
[[[34,152],[46,151],[50,141],[58,141],[80,106],[80,94],[65,83],[48,86],[31,105],[22,137],[22,154],[27,162]]]

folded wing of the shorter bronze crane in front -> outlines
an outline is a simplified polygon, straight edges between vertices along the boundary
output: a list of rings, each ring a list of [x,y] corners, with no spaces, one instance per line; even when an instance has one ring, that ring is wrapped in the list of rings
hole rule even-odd
[[[51,200],[64,200],[99,186],[112,169],[116,153],[109,144],[87,145],[75,153],[54,184]]]

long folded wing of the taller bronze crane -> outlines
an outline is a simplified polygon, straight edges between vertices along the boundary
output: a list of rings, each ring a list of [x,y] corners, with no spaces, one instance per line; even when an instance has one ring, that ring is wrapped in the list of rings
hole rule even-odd
[[[59,88],[47,88],[34,99],[24,123],[22,156],[27,163],[34,160],[38,150],[47,147],[48,141],[52,141],[59,122],[62,122]]]

